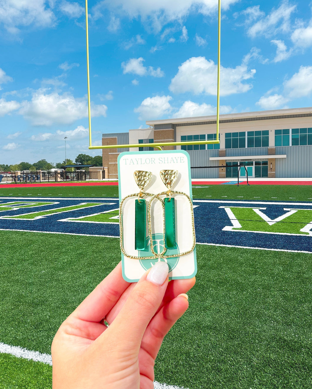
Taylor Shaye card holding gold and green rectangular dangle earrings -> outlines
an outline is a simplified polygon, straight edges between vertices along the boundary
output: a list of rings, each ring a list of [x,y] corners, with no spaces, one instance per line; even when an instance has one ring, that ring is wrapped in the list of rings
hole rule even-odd
[[[166,261],[169,279],[192,278],[197,262],[188,153],[122,152],[117,163],[122,276],[136,282]]]

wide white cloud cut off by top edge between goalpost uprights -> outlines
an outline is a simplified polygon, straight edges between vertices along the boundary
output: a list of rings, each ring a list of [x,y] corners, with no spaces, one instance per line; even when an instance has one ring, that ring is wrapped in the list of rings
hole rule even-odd
[[[237,0],[224,0],[222,8],[228,9],[230,4],[234,4]],[[189,14],[190,11],[207,15],[216,11],[218,2],[212,0],[105,0],[97,6],[97,12],[100,7],[108,7],[115,12],[126,14],[130,18],[141,16],[143,22],[148,22],[157,31],[160,31],[162,26],[172,21],[179,21]]]

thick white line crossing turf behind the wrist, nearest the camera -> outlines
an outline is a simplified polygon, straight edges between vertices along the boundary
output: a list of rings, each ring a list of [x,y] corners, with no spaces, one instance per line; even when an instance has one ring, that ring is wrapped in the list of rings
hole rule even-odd
[[[0,342],[0,353],[10,354],[17,358],[28,359],[28,361],[32,360],[35,362],[42,362],[52,366],[52,357],[50,354],[43,354],[39,351],[27,350],[20,346],[10,346],[9,344]],[[154,389],[186,389],[186,388],[176,386],[176,385],[160,384],[159,382],[154,381]]]

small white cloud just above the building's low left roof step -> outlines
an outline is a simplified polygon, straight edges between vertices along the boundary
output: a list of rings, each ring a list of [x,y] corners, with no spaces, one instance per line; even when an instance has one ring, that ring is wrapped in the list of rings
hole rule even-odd
[[[171,112],[170,100],[172,100],[171,96],[148,97],[134,109],[134,112],[139,114],[139,120],[156,119]]]

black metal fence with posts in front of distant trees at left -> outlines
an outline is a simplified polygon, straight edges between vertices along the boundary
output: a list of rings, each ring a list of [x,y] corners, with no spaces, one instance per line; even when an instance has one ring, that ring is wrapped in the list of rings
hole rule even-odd
[[[104,172],[103,172],[104,173]],[[58,175],[58,177],[56,177]],[[105,178],[102,175],[102,179]],[[85,170],[75,170],[73,172],[60,172],[54,171],[23,171],[21,174],[16,175],[13,172],[0,172],[0,184],[33,184],[37,182],[64,182],[64,181],[85,181],[92,179],[89,172]]]

